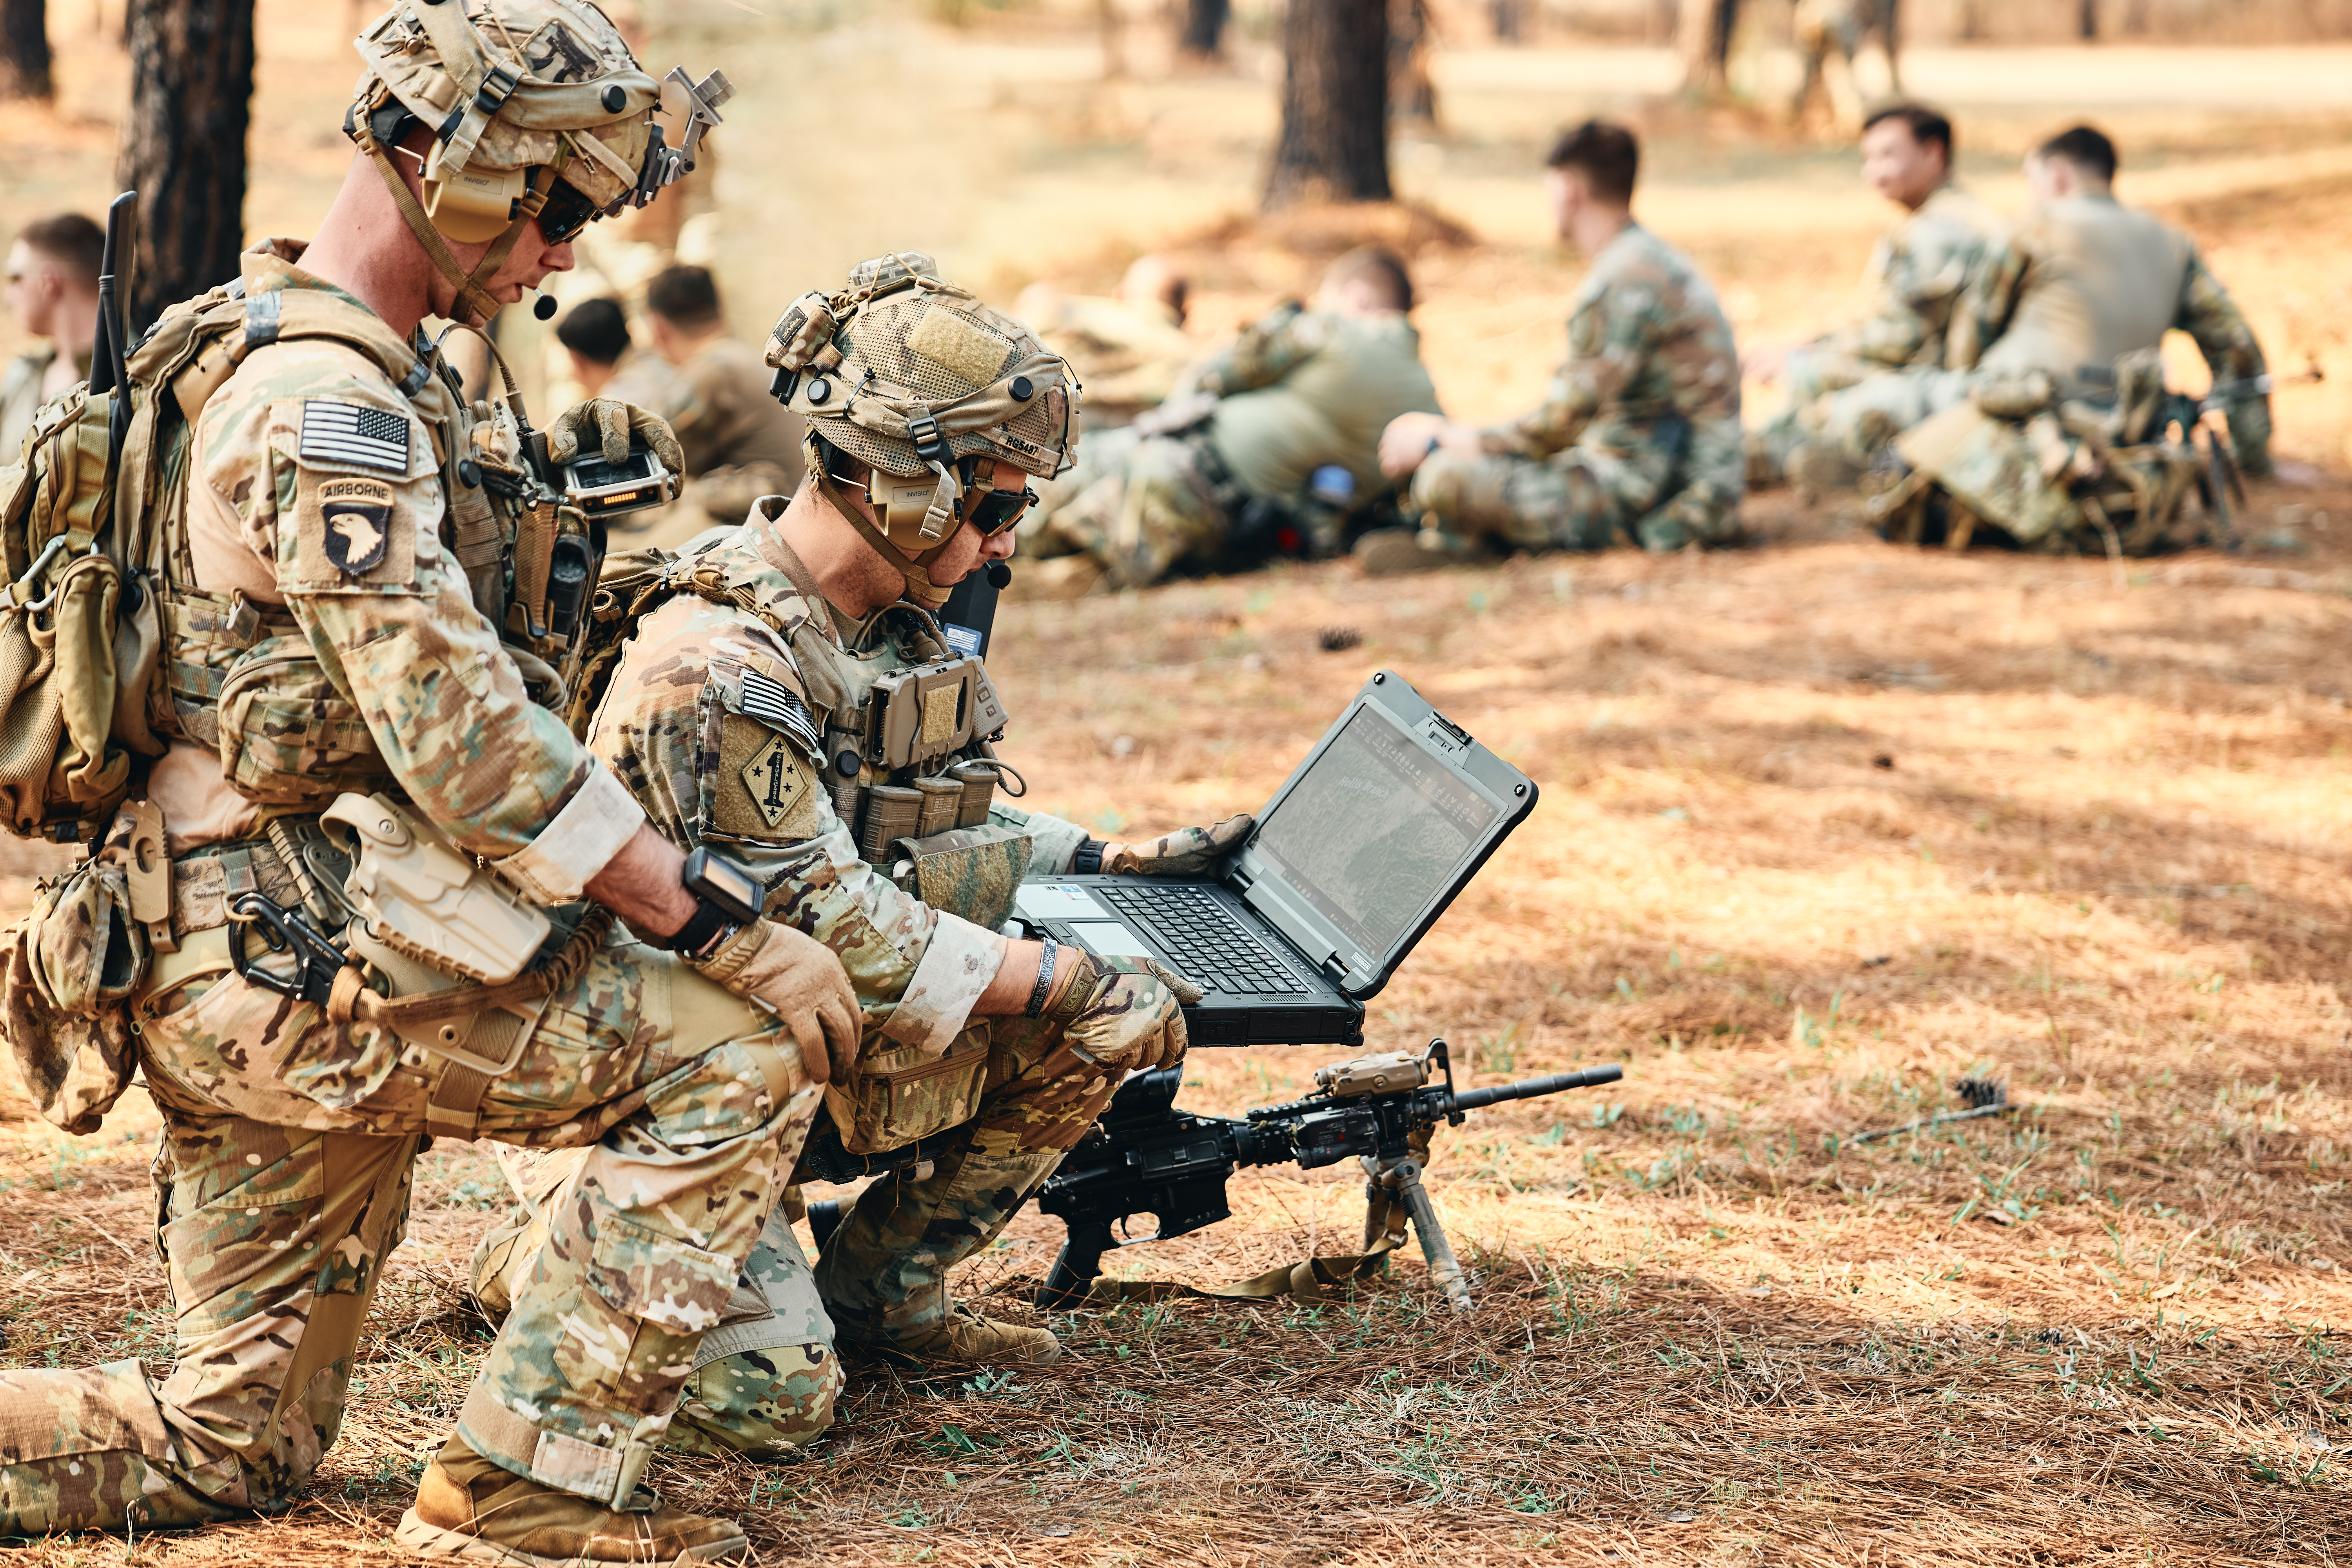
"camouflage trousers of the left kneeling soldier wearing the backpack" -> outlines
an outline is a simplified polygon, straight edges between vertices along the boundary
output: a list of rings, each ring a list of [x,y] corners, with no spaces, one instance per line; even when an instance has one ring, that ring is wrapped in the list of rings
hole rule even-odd
[[[278,1512],[341,1425],[437,1065],[247,985],[226,952],[226,931],[186,938],[134,1013],[165,1117],[172,1373],[0,1373],[0,1535]],[[668,954],[597,950],[477,1112],[480,1138],[583,1152],[459,1434],[517,1474],[626,1502],[816,1105],[764,1013]]]

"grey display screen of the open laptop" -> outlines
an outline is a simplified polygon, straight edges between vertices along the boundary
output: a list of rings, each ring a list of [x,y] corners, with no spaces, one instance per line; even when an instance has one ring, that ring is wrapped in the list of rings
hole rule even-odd
[[[1501,813],[1362,703],[1254,844],[1362,952],[1385,954],[1454,886]]]

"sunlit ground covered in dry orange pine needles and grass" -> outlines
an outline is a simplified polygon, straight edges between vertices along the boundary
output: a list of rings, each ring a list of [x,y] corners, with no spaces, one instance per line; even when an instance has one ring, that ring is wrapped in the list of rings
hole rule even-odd
[[[339,113],[348,66],[336,7],[263,14],[270,230],[332,188],[341,150],[313,120]],[[746,329],[903,244],[910,214],[1004,299],[1108,282],[1242,207],[1270,129],[1249,75],[1098,87],[1075,45],[736,26],[729,73],[776,85],[731,110],[736,134],[866,127],[854,169],[722,165]],[[66,120],[0,110],[0,143],[28,153],[0,162],[9,214],[103,193],[89,115],[118,87],[75,49]],[[2281,400],[2281,444],[2340,468],[2352,134],[2326,118],[2340,101],[2279,108],[2281,73],[2326,75],[2305,56],[2173,59],[2180,92],[2154,101],[2122,66],[2079,80],[2274,355],[2336,371]],[[1418,256],[1449,407],[1541,390],[1573,268],[1524,169],[1557,120],[1630,103],[1646,59],[1442,63],[1449,132],[1402,143],[1399,169],[1484,240]],[[1966,110],[1969,172],[2002,205],[2018,148],[2067,113],[2053,92],[2082,56],[2053,59],[1917,66]],[[873,108],[877,82],[901,115]],[[950,188],[941,115],[988,132],[995,200]],[[1651,146],[1653,223],[1745,336],[1844,308],[1882,221],[1844,150],[1663,118]],[[1312,275],[1225,233],[1195,247],[1207,327]],[[861,1375],[804,1462],[673,1465],[666,1493],[741,1512],[774,1563],[2352,1556],[2352,489],[2260,494],[2249,557],[2122,574],[1903,552],[1785,496],[1750,520],[1771,548],[1016,590],[995,661],[1009,755],[1037,804],[1105,832],[1261,802],[1383,665],[1510,755],[1545,799],[1376,1001],[1371,1044],[1444,1034],[1482,1084],[1599,1060],[1628,1077],[1442,1135],[1465,1319],[1418,1260],[1345,1302],[1056,1316],[1073,1356],[1054,1368]],[[1334,625],[1362,644],[1319,651]],[[1185,1103],[1287,1098],[1322,1060],[1202,1053]],[[2020,1110],[1851,1143],[1955,1105],[1964,1074],[2006,1079]],[[87,1140],[12,1100],[9,1363],[167,1354],[153,1143],[136,1093]],[[485,1342],[456,1281],[496,1194],[487,1154],[426,1157],[350,1418],[292,1514],[21,1561],[393,1559]],[[1117,1262],[1225,1279],[1350,1251],[1357,1201],[1338,1173],[1251,1173],[1232,1222]],[[1051,1232],[1023,1215],[962,1288],[1025,1312]]]

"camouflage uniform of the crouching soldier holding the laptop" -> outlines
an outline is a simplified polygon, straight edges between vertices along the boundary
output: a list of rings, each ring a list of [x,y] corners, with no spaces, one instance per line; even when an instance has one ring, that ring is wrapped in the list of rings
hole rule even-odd
[[[673,1446],[703,1453],[762,1450],[804,1443],[830,1422],[835,1326],[875,1340],[946,1316],[948,1269],[1004,1229],[1122,1074],[1075,1056],[1042,1020],[971,1018],[997,973],[995,931],[870,867],[818,783],[816,748],[755,717],[774,708],[746,703],[746,686],[769,682],[826,726],[877,677],[946,654],[929,616],[901,602],[840,628],[764,510],[682,562],[680,581],[687,588],[628,642],[590,745],[666,837],[722,846],[769,882],[771,919],[840,952],[866,1016],[854,1081],[826,1088],[849,1147],[960,1128],[929,1175],[901,1168],[861,1194],[816,1262],[814,1291],[790,1225],[769,1220],[750,1272],[776,1307],[710,1335],[739,1349],[696,1368],[670,1429]],[[1009,806],[995,806],[990,823],[1028,835],[1033,875],[1068,870],[1087,839],[1075,823]],[[534,1241],[513,1246],[517,1232],[527,1220],[475,1255],[492,1305],[524,1276]]]

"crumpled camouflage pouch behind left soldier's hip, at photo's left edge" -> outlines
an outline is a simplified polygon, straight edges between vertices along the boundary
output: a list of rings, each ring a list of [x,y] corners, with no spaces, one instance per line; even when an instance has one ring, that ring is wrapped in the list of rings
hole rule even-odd
[[[33,912],[0,936],[0,1025],[16,1072],[54,1126],[99,1131],[139,1072],[125,1004],[146,983],[148,959],[129,875],[111,860],[85,860],[42,882]]]

